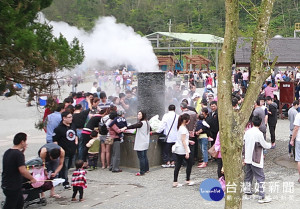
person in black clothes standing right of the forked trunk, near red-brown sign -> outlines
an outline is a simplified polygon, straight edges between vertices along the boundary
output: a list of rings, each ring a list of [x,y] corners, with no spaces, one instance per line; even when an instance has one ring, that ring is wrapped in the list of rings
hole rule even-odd
[[[272,143],[271,149],[274,149],[276,147],[275,129],[277,124],[277,104],[272,101],[272,98],[270,96],[266,97],[266,101],[268,105],[268,125],[269,125],[269,131],[270,131],[271,143]]]

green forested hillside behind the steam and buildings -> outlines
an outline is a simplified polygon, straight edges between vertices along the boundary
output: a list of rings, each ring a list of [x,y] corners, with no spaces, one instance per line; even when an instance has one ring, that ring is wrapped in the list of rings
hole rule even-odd
[[[251,36],[261,0],[240,3],[239,36]],[[300,0],[277,0],[270,21],[269,36],[293,37],[300,22]],[[43,10],[46,18],[64,21],[89,31],[99,16],[114,16],[119,23],[134,28],[140,35],[157,31],[208,33],[224,37],[224,0],[53,0]]]

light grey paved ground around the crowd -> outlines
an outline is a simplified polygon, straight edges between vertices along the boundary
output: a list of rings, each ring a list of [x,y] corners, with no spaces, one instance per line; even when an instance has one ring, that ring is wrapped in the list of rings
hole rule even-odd
[[[82,84],[80,90],[88,91],[91,84]],[[67,87],[66,87],[67,88]],[[201,91],[201,89],[197,89]],[[66,94],[64,92],[63,94]],[[2,99],[2,97],[0,97]],[[28,134],[29,147],[26,158],[35,157],[37,150],[45,142],[45,133],[34,128],[41,116],[36,107],[25,107],[25,102],[12,97],[11,100],[0,100],[0,152],[11,146],[11,139],[16,132]],[[267,153],[265,159],[265,175],[267,193],[273,198],[268,204],[259,205],[256,200],[244,200],[243,208],[299,208],[300,184],[296,163],[287,157],[288,120],[279,120],[277,124],[277,147]],[[2,154],[0,155],[2,162]],[[0,166],[2,169],[2,166]],[[111,173],[98,169],[87,174],[88,188],[84,191],[85,202],[71,203],[72,191],[64,191],[61,186],[57,192],[63,196],[60,200],[48,198],[48,205],[31,208],[224,208],[224,199],[220,202],[209,202],[199,194],[200,183],[207,178],[217,178],[217,165],[209,163],[205,169],[193,167],[192,179],[195,186],[172,188],[173,169],[155,167],[145,176],[136,177],[136,169],[123,168],[122,173]],[[184,182],[185,169],[181,169],[179,181]],[[289,193],[286,185],[292,184]],[[285,189],[285,190],[284,190]],[[271,193],[271,191],[273,193]],[[47,194],[49,195],[49,194]],[[0,199],[3,200],[3,194]]]

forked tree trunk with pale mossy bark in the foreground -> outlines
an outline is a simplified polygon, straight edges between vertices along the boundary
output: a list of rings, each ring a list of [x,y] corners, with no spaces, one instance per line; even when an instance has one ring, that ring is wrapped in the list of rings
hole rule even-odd
[[[251,77],[245,100],[240,110],[231,107],[231,66],[236,49],[239,28],[239,0],[226,0],[226,26],[224,44],[218,71],[218,107],[220,139],[226,184],[236,188],[227,193],[225,208],[242,208],[242,147],[245,125],[252,112],[262,83],[270,75],[266,70],[264,54],[267,46],[268,27],[275,0],[262,0],[258,9],[251,51]],[[276,62],[276,61],[275,61]]]

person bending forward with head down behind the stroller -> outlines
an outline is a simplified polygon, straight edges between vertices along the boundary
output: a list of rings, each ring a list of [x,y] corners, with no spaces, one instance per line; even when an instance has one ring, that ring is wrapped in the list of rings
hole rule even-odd
[[[55,178],[64,165],[65,151],[63,148],[55,143],[47,143],[39,149],[38,156],[47,168],[47,175],[51,173],[50,178]],[[45,197],[44,192],[42,192],[41,196]],[[55,194],[54,187],[50,190],[50,197],[61,198],[60,195]]]

